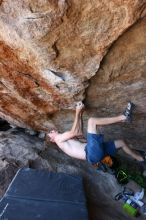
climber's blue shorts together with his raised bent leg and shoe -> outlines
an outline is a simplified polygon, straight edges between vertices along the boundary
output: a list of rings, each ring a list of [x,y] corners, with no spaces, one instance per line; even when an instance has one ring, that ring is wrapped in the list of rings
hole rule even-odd
[[[114,155],[116,146],[114,141],[104,142],[102,134],[97,134],[97,128],[103,125],[114,124],[123,121],[130,121],[133,111],[133,104],[129,102],[123,114],[108,118],[89,118],[87,127],[86,157],[90,163],[97,163],[106,155]]]

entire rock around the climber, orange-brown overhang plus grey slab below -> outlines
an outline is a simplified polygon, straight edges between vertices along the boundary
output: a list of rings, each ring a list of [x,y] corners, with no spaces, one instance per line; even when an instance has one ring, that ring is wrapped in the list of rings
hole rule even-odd
[[[105,134],[146,150],[145,71],[145,0],[0,0],[0,118],[13,127],[70,129],[75,102],[84,100],[86,128],[88,117],[121,114],[132,100],[133,123]],[[80,174],[91,220],[130,219],[113,200],[121,190],[113,176],[43,150],[38,137],[0,132],[0,196],[23,166]]]

